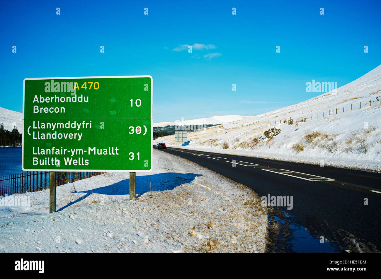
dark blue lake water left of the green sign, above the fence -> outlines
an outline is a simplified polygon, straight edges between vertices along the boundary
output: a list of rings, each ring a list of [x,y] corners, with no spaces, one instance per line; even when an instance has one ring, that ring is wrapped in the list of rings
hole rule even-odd
[[[24,172],[21,169],[21,147],[0,148],[0,175]]]

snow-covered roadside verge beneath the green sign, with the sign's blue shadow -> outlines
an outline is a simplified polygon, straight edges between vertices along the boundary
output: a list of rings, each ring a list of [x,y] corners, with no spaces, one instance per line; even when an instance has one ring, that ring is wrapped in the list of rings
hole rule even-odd
[[[136,173],[134,201],[128,177],[59,186],[53,214],[49,190],[19,195],[32,206],[2,208],[0,252],[266,251],[267,211],[253,190],[158,150],[153,171]]]

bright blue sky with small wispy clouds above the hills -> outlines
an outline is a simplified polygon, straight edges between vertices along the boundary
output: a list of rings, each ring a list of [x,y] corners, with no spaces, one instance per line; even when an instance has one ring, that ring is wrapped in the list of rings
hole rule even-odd
[[[0,107],[22,111],[27,77],[151,75],[154,122],[256,115],[381,64],[378,0],[136,2],[2,1]]]

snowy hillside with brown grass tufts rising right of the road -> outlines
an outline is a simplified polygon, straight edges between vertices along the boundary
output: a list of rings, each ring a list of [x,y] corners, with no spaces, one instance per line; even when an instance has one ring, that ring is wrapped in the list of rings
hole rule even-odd
[[[221,127],[189,132],[190,142],[186,148],[213,145],[214,150],[380,161],[380,96],[381,65],[336,92],[323,93],[299,104]],[[288,124],[290,118],[291,125]],[[272,139],[265,137],[264,131],[273,127],[281,129],[280,134]],[[174,136],[160,137],[154,140],[157,142],[181,145],[174,142]]]

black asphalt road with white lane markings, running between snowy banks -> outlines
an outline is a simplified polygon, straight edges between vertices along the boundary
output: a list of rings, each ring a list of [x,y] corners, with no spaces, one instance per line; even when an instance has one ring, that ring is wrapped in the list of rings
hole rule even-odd
[[[341,242],[348,236],[381,250],[381,174],[181,148],[160,151],[207,167],[259,196],[292,196],[292,209],[281,210],[317,237]]]

